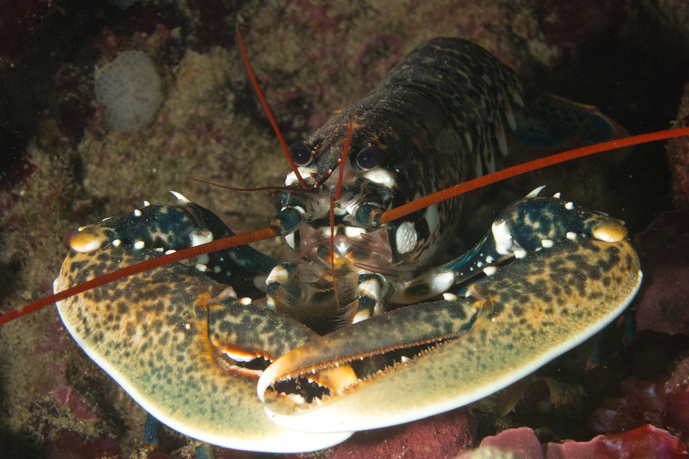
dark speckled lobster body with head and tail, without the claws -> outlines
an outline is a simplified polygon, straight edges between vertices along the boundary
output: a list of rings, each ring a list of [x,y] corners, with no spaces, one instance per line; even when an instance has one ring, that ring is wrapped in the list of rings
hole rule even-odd
[[[341,165],[351,110],[351,152]],[[381,276],[371,273],[405,283],[439,260],[446,261],[447,247],[457,237],[462,196],[384,227],[376,224],[377,215],[484,172],[495,172],[496,162],[508,150],[553,152],[624,135],[624,128],[593,107],[522,85],[513,70],[480,46],[447,38],[424,43],[353,109],[342,110],[308,141],[290,147],[307,183],[320,190],[315,196],[300,196],[292,173],[285,184],[296,190],[279,192],[282,212],[276,219],[298,258],[318,263],[329,257],[329,196],[338,179],[333,171],[338,165],[344,167],[341,197],[335,203],[333,248],[335,256],[343,258],[347,269],[342,272],[350,280],[344,273],[338,280],[340,298],[321,309],[325,317],[313,308],[300,314],[301,305],[311,303],[315,292],[308,292],[308,282],[298,278],[304,271],[302,278],[314,278],[313,265],[301,267],[294,274],[296,279],[290,279],[300,285],[287,288],[299,294],[278,292],[276,285],[269,297],[281,296],[276,302],[279,310],[316,328],[328,318],[337,318],[338,305],[349,305],[355,298],[358,305],[340,312],[356,314],[355,320],[382,311],[381,296],[386,294],[394,296],[395,303],[423,300],[418,282],[413,284],[416,292],[405,296],[404,285],[388,289]],[[330,269],[329,262],[320,265],[325,272],[318,278],[327,276]],[[352,266],[358,269],[349,269]],[[356,283],[363,282],[371,295],[362,295],[363,288],[356,288]],[[444,286],[430,287],[426,296],[442,293],[447,285],[440,283]],[[320,292],[320,287],[314,288]],[[340,318],[336,325],[341,323]]]

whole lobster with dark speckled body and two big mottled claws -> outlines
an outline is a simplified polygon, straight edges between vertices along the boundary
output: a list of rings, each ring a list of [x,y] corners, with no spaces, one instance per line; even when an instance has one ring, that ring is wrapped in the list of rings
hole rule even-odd
[[[458,258],[447,254],[460,197],[392,221],[386,212],[495,172],[517,150],[625,135],[595,108],[522,84],[477,45],[433,39],[289,147],[297,167],[271,234],[294,260],[240,245],[72,296],[59,313],[143,408],[216,445],[312,451],[438,414],[608,325],[637,292],[639,260],[623,223],[540,189]],[[232,236],[176,196],[80,228],[55,292]]]

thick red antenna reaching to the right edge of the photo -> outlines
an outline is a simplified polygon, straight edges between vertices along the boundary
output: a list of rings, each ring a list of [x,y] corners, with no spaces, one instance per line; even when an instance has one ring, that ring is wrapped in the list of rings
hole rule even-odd
[[[473,179],[460,183],[459,185],[446,188],[445,190],[429,194],[428,196],[419,198],[416,201],[411,201],[411,203],[400,205],[400,207],[395,207],[394,209],[380,214],[378,223],[382,225],[383,223],[397,220],[398,218],[409,215],[412,212],[429,207],[429,205],[440,203],[440,201],[444,201],[445,199],[453,198],[471,190],[476,190],[477,188],[491,185],[491,183],[510,179],[513,176],[525,174],[526,172],[541,169],[542,167],[549,165],[564,163],[565,161],[570,161],[570,159],[582,158],[583,156],[588,156],[589,154],[606,152],[608,150],[615,150],[616,148],[630,147],[631,145],[638,145],[639,143],[647,143],[686,135],[689,135],[689,128],[669,129],[665,131],[651,132],[650,134],[626,137],[625,139],[597,143],[596,145],[589,145],[588,147],[581,147],[577,148],[576,150],[553,154],[553,156],[547,156],[546,158],[536,159],[535,161],[529,161],[528,163],[508,167],[507,169],[493,172],[493,174],[484,175],[478,179]]]

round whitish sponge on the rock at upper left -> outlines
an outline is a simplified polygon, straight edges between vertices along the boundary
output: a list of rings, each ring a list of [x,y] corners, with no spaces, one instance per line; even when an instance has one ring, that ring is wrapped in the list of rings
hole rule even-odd
[[[120,132],[134,132],[153,121],[163,102],[161,77],[143,51],[123,51],[96,70],[96,99],[105,122]]]

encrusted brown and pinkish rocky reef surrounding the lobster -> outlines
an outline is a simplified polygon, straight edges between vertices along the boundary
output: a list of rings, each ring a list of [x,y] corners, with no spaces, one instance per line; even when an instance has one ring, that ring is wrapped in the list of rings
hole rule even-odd
[[[237,232],[269,221],[269,195],[186,179],[258,187],[280,185],[287,174],[238,54],[236,24],[287,143],[367,94],[416,45],[440,36],[475,41],[526,81],[597,106],[631,134],[689,119],[682,95],[689,7],[679,0],[117,3],[0,0],[3,312],[52,291],[77,227],[143,200],[172,203],[169,190],[213,210]],[[163,89],[154,119],[130,133],[110,128],[94,92],[96,69],[127,50],[150,55]],[[539,443],[584,442],[646,423],[689,440],[689,404],[668,412],[668,400],[689,400],[688,151],[686,139],[677,139],[669,154],[656,143],[582,159],[495,185],[466,206],[464,245],[502,206],[544,184],[626,221],[645,273],[630,314],[646,332],[630,341],[624,325],[615,324],[602,340],[469,409],[359,433],[320,456],[455,456],[523,426]],[[285,247],[259,245],[277,256]],[[601,354],[593,363],[592,349]],[[130,456],[145,416],[76,346],[53,307],[0,329],[0,457]],[[643,428],[635,441],[667,440]],[[185,445],[187,439],[164,432],[158,452],[194,456]],[[667,451],[678,453],[672,445]]]

